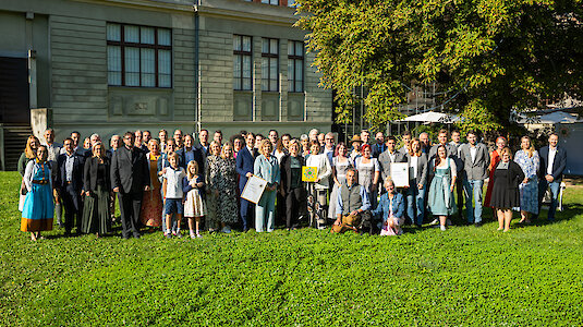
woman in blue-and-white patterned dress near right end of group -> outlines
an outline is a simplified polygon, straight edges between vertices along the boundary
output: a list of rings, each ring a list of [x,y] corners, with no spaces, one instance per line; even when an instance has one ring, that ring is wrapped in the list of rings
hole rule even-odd
[[[531,214],[538,215],[538,168],[541,157],[534,149],[531,137],[522,136],[520,140],[520,150],[514,156],[514,161],[519,164],[524,172],[524,180],[520,183],[520,223],[531,223]]]

